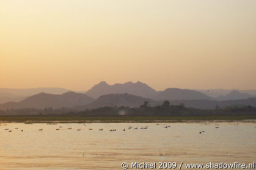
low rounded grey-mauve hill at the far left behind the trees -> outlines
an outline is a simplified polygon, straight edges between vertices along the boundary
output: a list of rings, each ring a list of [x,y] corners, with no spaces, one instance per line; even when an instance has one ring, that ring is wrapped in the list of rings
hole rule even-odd
[[[67,92],[63,94],[48,94],[39,93],[31,97],[27,97],[20,102],[6,102],[0,104],[0,109],[8,108],[61,108],[61,107],[75,107],[77,105],[86,105],[94,99],[82,93]]]

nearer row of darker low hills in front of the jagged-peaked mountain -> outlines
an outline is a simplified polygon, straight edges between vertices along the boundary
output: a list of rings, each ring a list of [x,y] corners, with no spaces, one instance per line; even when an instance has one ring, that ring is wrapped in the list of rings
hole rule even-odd
[[[156,106],[163,104],[164,101],[155,101],[153,99],[144,98],[140,96],[134,96],[133,94],[106,94],[93,100],[92,97],[86,94],[67,92],[64,94],[46,94],[40,93],[34,96],[27,97],[21,102],[7,102],[0,104],[0,110],[6,110],[10,108],[73,108],[74,110],[84,110],[90,108],[100,107],[139,107],[148,102],[150,106]],[[171,105],[184,104],[185,107],[194,107],[202,109],[213,109],[218,105],[219,107],[233,107],[233,106],[247,106],[251,105],[256,107],[256,98],[241,99],[241,100],[229,100],[229,101],[213,101],[207,99],[194,99],[194,100],[169,100]]]

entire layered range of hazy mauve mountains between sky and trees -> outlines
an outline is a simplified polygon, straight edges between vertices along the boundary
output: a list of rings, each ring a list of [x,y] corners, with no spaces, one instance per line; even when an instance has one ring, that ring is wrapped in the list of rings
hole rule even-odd
[[[100,82],[86,93],[67,91],[64,88],[0,88],[0,101],[12,101],[0,104],[0,109],[45,107],[84,109],[120,105],[139,107],[144,101],[148,101],[149,105],[154,106],[165,100],[170,101],[171,104],[183,103],[186,107],[214,108],[216,105],[220,107],[229,105],[254,106],[254,97],[256,97],[236,90],[225,91],[225,95],[218,97],[211,97],[213,94],[208,96],[208,93],[214,93],[211,90],[167,88],[164,91],[156,91],[142,82],[116,83],[114,85]],[[218,94],[223,94],[223,91],[215,91]]]

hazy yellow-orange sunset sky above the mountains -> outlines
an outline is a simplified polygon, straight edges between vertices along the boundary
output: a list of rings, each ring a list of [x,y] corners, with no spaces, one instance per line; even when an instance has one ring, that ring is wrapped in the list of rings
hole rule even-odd
[[[256,89],[256,1],[0,0],[0,87]]]

